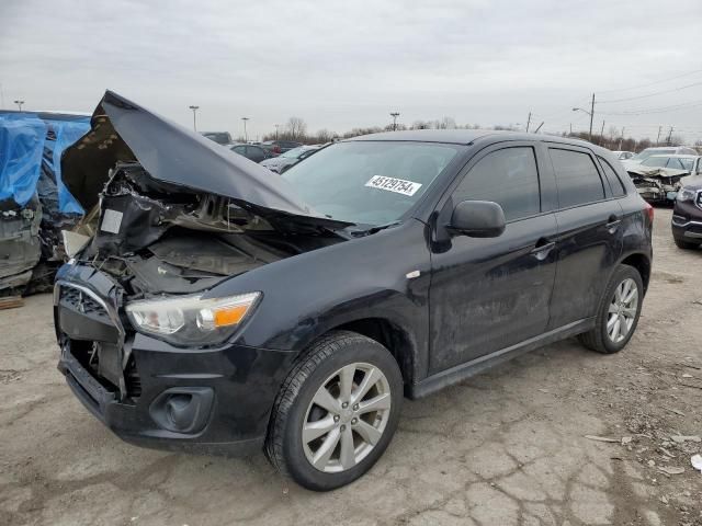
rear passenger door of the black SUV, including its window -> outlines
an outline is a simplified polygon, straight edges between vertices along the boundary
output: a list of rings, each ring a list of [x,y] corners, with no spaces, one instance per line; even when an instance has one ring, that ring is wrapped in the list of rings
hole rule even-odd
[[[622,207],[591,151],[551,144],[547,152],[558,195],[550,322],[556,329],[595,316],[622,252]]]

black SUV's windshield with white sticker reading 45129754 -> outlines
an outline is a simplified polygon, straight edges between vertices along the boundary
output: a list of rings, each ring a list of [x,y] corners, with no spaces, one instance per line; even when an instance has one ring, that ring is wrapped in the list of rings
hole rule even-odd
[[[458,148],[431,142],[339,142],[295,164],[282,178],[327,217],[386,225],[419,201]]]

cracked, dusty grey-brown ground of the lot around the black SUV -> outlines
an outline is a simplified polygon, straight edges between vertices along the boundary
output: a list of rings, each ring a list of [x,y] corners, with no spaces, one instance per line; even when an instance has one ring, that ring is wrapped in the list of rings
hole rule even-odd
[[[50,297],[30,297],[0,312],[0,524],[702,525],[702,251],[678,250],[669,221],[656,210],[652,284],[622,353],[569,340],[406,401],[375,468],[327,494],[262,455],[122,443],[56,370]]]

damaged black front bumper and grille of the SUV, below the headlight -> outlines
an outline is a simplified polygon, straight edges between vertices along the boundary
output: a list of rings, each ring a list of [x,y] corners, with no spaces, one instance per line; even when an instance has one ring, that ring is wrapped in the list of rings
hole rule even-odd
[[[88,266],[66,265],[57,276],[58,369],[83,405],[117,436],[140,446],[224,455],[260,450],[293,353],[236,344],[183,348],[134,333],[124,329],[115,287]],[[76,308],[70,294],[64,299],[64,290],[77,289],[92,294],[81,298],[87,307]],[[100,302],[104,316],[95,309]],[[186,415],[192,425],[174,431],[165,404],[183,397],[197,405]]]

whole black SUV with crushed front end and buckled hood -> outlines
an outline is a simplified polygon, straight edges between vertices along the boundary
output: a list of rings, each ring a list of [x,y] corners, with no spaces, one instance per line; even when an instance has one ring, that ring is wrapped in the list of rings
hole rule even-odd
[[[567,336],[620,351],[650,274],[653,209],[578,140],[386,133],[271,178],[107,92],[63,170],[100,206],[55,287],[75,395],[128,442],[264,448],[314,490],[378,459],[403,396]]]

